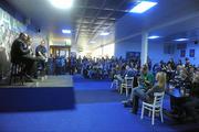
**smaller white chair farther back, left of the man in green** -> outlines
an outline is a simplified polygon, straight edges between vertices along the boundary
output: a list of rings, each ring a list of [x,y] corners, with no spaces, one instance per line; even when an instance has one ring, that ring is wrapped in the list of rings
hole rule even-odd
[[[128,96],[128,90],[133,89],[134,77],[125,77],[124,84],[121,85],[121,94],[123,94],[123,89],[126,90],[126,97]]]

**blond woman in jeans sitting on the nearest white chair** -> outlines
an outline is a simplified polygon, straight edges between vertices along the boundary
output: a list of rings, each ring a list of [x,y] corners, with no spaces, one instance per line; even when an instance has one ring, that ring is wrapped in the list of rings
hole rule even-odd
[[[157,80],[157,84],[153,88],[148,89],[146,92],[144,92],[140,89],[135,89],[134,90],[134,95],[133,95],[133,110],[132,110],[133,113],[135,113],[135,114],[137,113],[139,98],[143,101],[153,102],[154,101],[154,94],[155,92],[163,92],[163,91],[165,91],[166,74],[163,73],[163,72],[157,73],[156,80]]]

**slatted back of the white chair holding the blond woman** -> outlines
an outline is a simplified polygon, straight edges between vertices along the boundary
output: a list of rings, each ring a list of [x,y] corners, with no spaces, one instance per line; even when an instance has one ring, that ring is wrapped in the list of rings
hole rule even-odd
[[[164,92],[155,92],[154,94],[154,106],[161,108],[163,100],[164,100],[165,91]]]

